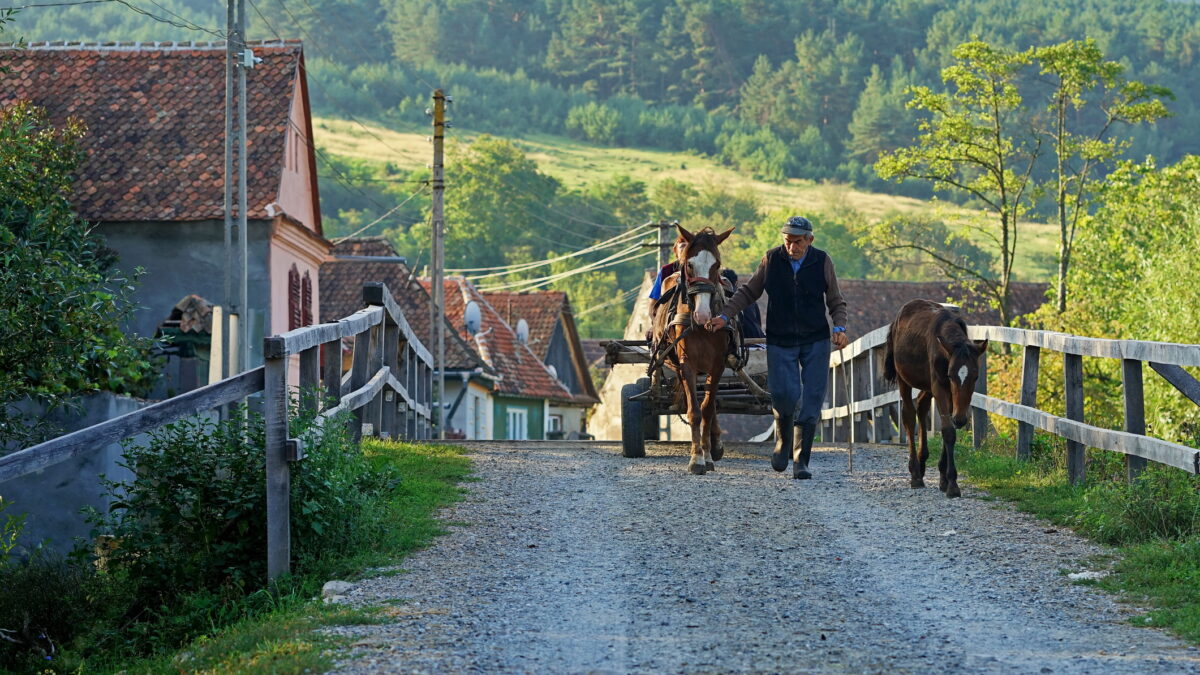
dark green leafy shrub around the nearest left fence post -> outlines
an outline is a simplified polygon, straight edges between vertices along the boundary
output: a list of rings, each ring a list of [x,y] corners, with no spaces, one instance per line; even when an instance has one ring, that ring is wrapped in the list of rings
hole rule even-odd
[[[397,478],[370,467],[344,419],[319,426],[293,417],[290,435],[307,453],[292,471],[292,549],[305,571],[368,540],[374,531],[364,512]],[[144,446],[127,444],[133,478],[108,483],[115,501],[92,521],[119,542],[108,565],[138,580],[146,607],[188,593],[239,596],[265,581],[263,446],[263,419],[253,413],[182,420]]]

